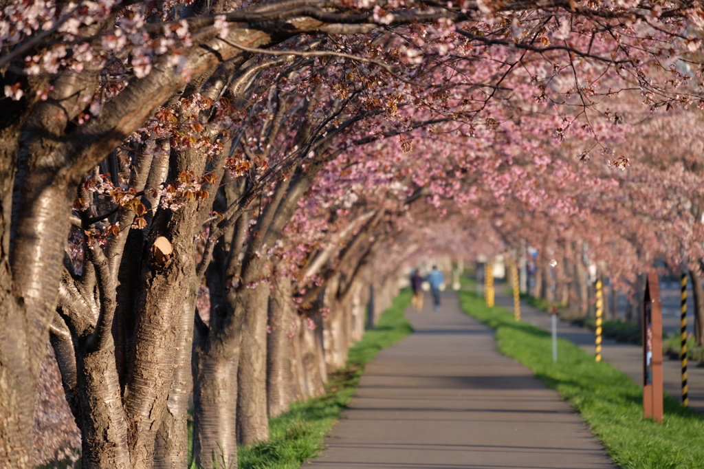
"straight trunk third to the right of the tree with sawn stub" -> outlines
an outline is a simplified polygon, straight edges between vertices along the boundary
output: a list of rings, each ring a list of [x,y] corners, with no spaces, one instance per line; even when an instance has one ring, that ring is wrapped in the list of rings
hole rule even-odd
[[[291,402],[291,280],[277,282],[269,298],[267,335],[267,408],[269,418],[289,411]]]

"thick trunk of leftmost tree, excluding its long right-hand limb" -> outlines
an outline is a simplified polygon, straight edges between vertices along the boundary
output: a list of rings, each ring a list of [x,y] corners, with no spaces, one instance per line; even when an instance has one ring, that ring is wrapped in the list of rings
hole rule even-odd
[[[15,114],[22,117],[6,122],[0,136],[0,465],[12,468],[31,464],[39,368],[56,312],[68,215],[83,175],[65,152],[65,132],[96,79],[88,68],[63,73],[51,82],[49,99],[25,102],[32,110]],[[3,104],[8,111],[16,105]],[[97,163],[96,156],[85,159]]]

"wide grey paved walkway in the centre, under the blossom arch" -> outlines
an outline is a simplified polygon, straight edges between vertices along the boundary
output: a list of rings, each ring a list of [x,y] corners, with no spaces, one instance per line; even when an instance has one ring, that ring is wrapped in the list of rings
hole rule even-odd
[[[415,333],[367,365],[315,469],[613,468],[557,392],[460,312],[407,311]],[[308,465],[306,465],[308,467]]]

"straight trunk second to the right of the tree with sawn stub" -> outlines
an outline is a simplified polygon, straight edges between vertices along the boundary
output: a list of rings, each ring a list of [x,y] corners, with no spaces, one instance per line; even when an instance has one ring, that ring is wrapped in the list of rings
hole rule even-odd
[[[266,392],[269,284],[246,289],[242,346],[237,373],[237,439],[244,444],[269,439]]]

